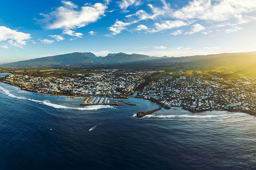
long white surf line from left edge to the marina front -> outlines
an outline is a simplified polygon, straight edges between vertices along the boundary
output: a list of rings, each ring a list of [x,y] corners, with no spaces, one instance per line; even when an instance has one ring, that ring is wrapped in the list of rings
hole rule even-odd
[[[34,100],[34,99],[25,98],[25,97],[18,97],[18,96],[11,94],[10,92],[8,92],[6,89],[4,89],[1,86],[0,86],[0,90],[2,90],[2,91],[0,91],[0,93],[4,94],[6,96],[12,97],[12,98],[29,100],[29,101],[32,101],[32,102],[35,102],[38,104],[43,104],[43,105],[58,108],[58,109],[98,110],[101,108],[115,108],[115,107],[111,107],[108,105],[97,105],[97,106],[86,106],[86,107],[67,107],[67,106],[51,103],[49,100]]]

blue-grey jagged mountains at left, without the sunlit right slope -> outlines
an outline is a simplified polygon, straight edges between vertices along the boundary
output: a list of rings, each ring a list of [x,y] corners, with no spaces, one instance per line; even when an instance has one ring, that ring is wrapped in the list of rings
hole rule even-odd
[[[97,57],[91,52],[86,53],[70,53],[63,55],[54,55],[42,58],[36,58],[25,61],[18,61],[13,63],[1,64],[1,67],[61,67],[61,66],[87,66],[94,64],[119,64],[119,63],[132,63],[140,61],[148,61],[157,59],[159,57],[152,57],[140,54],[125,54],[109,53],[105,57]]]

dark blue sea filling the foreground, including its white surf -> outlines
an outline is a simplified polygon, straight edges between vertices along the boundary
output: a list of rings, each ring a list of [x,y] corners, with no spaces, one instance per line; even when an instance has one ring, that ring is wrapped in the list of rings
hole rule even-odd
[[[256,169],[256,119],[247,114],[173,107],[139,119],[137,110],[158,105],[83,100],[0,83],[0,169]]]

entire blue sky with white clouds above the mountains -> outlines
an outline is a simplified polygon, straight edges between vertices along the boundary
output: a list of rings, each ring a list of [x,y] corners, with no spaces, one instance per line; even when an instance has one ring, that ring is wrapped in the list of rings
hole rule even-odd
[[[255,0],[2,0],[0,63],[72,52],[250,52],[255,30]]]

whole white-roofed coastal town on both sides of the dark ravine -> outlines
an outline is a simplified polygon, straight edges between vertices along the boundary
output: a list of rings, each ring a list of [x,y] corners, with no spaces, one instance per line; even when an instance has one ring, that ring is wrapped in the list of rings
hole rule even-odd
[[[101,70],[100,73],[75,74],[73,77],[13,74],[1,81],[19,86],[23,90],[44,94],[127,99],[137,90],[136,98],[152,100],[162,106],[183,107],[192,112],[255,112],[256,78],[219,78],[188,75],[181,71],[166,76],[161,76],[161,72],[158,72],[160,76],[153,76],[155,74],[152,73],[156,71]],[[137,89],[145,81],[145,77],[150,77],[151,81]]]

